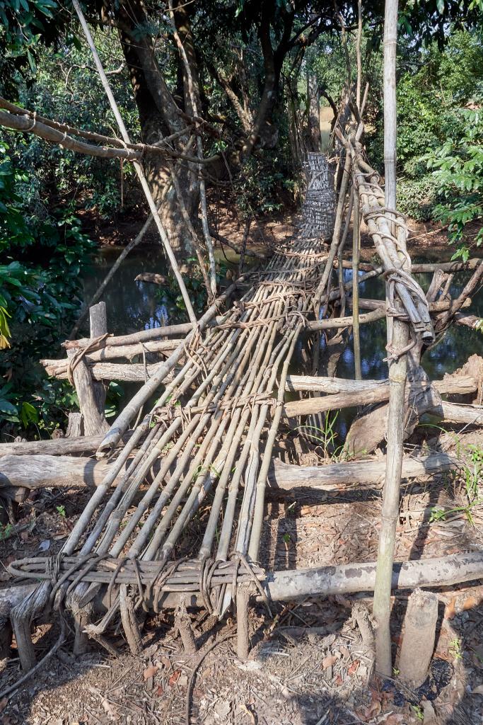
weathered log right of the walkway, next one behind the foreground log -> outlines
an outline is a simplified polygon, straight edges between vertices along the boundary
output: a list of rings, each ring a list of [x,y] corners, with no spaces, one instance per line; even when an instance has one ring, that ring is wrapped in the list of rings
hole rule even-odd
[[[329,463],[329,465],[291,465],[274,460],[269,473],[271,486],[285,489],[314,489],[335,491],[339,484],[371,484],[382,482],[385,475],[386,459],[349,461],[348,463]],[[432,453],[427,456],[403,457],[403,479],[418,476],[432,476],[440,471],[458,468],[458,461],[447,453]]]

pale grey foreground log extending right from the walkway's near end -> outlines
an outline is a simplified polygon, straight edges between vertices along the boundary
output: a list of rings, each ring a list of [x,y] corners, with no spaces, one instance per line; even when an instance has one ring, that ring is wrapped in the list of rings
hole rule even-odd
[[[392,589],[448,587],[463,581],[481,579],[483,552],[453,554],[441,558],[395,562],[392,566]],[[272,571],[264,587],[274,601],[303,597],[374,592],[375,563],[321,566],[318,568]]]

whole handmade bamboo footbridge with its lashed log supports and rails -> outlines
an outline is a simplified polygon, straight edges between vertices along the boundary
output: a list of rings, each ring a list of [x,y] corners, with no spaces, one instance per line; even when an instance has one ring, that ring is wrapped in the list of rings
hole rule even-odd
[[[0,112],[0,123],[8,128],[38,133],[64,145],[69,138],[67,130],[74,136],[80,133],[70,127],[61,133],[48,119],[38,121],[35,115],[7,101],[0,101],[0,105],[7,109]],[[60,134],[60,140],[54,130]],[[103,477],[96,481],[96,490],[59,554],[17,560],[9,565],[9,572],[22,584],[9,590],[8,618],[22,666],[30,674],[41,664],[35,665],[31,625],[46,612],[51,618],[58,616],[61,623],[56,647],[64,641],[65,618],[70,613],[75,621],[77,651],[88,635],[115,653],[110,635],[120,620],[130,650],[139,653],[143,646],[143,619],[148,612],[175,608],[180,632],[185,633],[183,643],[189,649],[193,646],[193,635],[186,607],[201,606],[217,618],[235,609],[238,653],[245,656],[251,597],[269,606],[271,600],[310,592],[374,589],[372,563],[282,572],[265,571],[261,566],[266,490],[280,422],[284,415],[289,416],[285,391],[295,345],[304,330],[314,333],[331,327],[356,328],[358,310],[353,310],[351,318],[337,318],[335,302],[345,299],[346,292],[357,289],[364,279],[383,275],[387,283],[384,314],[388,326],[391,328],[398,320],[409,328],[404,347],[398,348],[390,340],[387,360],[399,360],[408,353],[416,360],[406,405],[418,413],[423,410],[421,399],[416,401],[419,394],[426,396],[424,405],[434,405],[434,400],[439,405],[440,393],[419,368],[421,347],[431,344],[435,333],[441,334],[466,305],[483,275],[483,265],[470,262],[469,268],[474,270],[471,279],[454,301],[441,294],[447,289],[448,278],[436,265],[434,282],[424,294],[411,273],[406,221],[385,204],[379,176],[369,165],[361,144],[363,130],[358,112],[353,114],[353,120],[350,114],[341,112],[332,163],[322,154],[308,155],[300,231],[275,250],[263,269],[246,273],[198,321],[190,314],[190,323],[173,326],[171,331],[161,328],[116,340],[119,347],[110,356],[114,359],[122,356],[121,343],[132,347],[156,336],[161,340],[169,334],[185,334],[172,344],[161,341],[165,349],[172,349],[171,354],[153,366],[146,382],[110,428],[101,410],[96,410],[96,384],[88,363],[104,360],[104,356],[109,359],[107,352],[116,347],[114,339],[109,338],[106,330],[91,331],[90,339],[66,344],[67,360],[53,361],[62,368],[59,376],[67,376],[80,397],[87,386],[84,413],[90,416],[90,432],[101,435],[95,444],[91,440],[90,448],[80,443],[78,449],[72,450],[97,450],[98,460],[93,467],[101,467]],[[96,138],[95,134],[90,134],[88,142],[83,141],[77,150],[93,153],[93,149],[100,147],[93,146],[92,141],[107,144],[109,154],[114,156],[142,156],[146,152],[139,148],[142,144],[130,148],[125,142],[119,146],[113,139]],[[107,153],[106,146],[103,149]],[[361,210],[382,265],[363,275],[358,275],[356,265],[353,281],[345,284],[340,274],[338,286],[332,287],[337,260],[339,270],[343,268],[353,202],[354,208]],[[327,240],[331,240],[329,244]],[[230,306],[230,299],[241,283],[248,285],[248,291]],[[225,306],[227,310],[223,311]],[[361,316],[360,323],[380,318],[380,307],[373,312],[377,314],[365,315],[364,319]],[[100,357],[94,357],[97,354]],[[353,392],[362,397],[362,402],[367,401],[365,382],[353,381]],[[319,388],[317,384],[316,378],[311,378],[309,389],[334,392],[330,388],[334,379],[326,378]],[[461,381],[460,384],[463,385]],[[469,386],[474,389],[474,381]],[[382,388],[374,394],[372,400],[378,402],[388,397]],[[145,413],[153,396],[156,403]],[[337,402],[350,405],[341,402],[340,396]],[[310,406],[304,410],[303,400],[298,405],[301,407],[296,415],[314,412]],[[324,400],[319,410],[328,410],[329,405],[330,400]],[[459,415],[460,420],[464,415],[468,416],[465,420],[482,420],[481,407],[466,408],[457,412],[448,407],[446,410],[450,410],[450,415]],[[46,452],[48,447],[44,448],[41,446]],[[35,453],[40,452],[35,449]],[[45,458],[38,455],[40,465],[46,463]],[[419,475],[421,468],[444,470],[452,465],[448,457],[429,458],[421,457],[420,468],[416,466],[419,473],[408,475]],[[61,465],[67,465],[67,458],[60,460]],[[299,469],[299,476],[300,471],[303,469]],[[336,478],[335,471],[332,473]],[[348,468],[343,469],[342,475],[348,476]],[[359,479],[357,473],[351,475],[356,479],[350,480],[361,480],[362,474]],[[8,480],[8,476],[5,478]],[[12,488],[11,482],[9,485]],[[24,481],[17,488],[28,486],[28,481]],[[200,539],[190,536],[190,523],[207,503],[209,515]],[[392,586],[451,584],[475,579],[482,572],[482,552],[469,552],[398,565],[393,570]]]

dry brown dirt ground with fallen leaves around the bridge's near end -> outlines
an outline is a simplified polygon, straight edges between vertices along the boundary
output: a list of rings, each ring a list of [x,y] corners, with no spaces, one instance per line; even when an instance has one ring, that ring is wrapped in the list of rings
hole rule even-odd
[[[256,231],[251,243],[263,249],[293,232],[292,220],[273,221]],[[424,254],[442,247],[445,232],[418,225]],[[240,243],[243,229],[225,218],[220,233]],[[414,236],[417,236],[416,233]],[[429,241],[428,241],[429,240]],[[364,246],[364,245],[363,245]],[[253,249],[253,247],[252,247]],[[369,249],[363,254],[371,259]],[[483,432],[466,431],[432,439],[419,431],[416,443],[462,455],[473,445],[483,449]],[[458,448],[458,450],[456,450]],[[285,455],[279,451],[280,455]],[[314,463],[316,451],[309,452]],[[308,462],[308,459],[307,461]],[[301,460],[303,463],[303,460]],[[319,460],[321,465],[323,460]],[[403,484],[395,558],[429,558],[483,547],[483,481],[478,481],[471,510],[464,476],[439,475]],[[382,481],[358,492],[269,496],[266,505],[262,565],[267,569],[328,566],[374,561],[377,556]],[[88,500],[87,491],[45,489],[20,505],[14,529],[0,529],[0,587],[11,584],[13,560],[60,550]],[[442,513],[436,514],[436,511]],[[203,513],[201,513],[201,518]],[[196,531],[193,535],[196,535]],[[175,552],[176,553],[176,552]],[[87,654],[72,655],[67,641],[32,679],[9,697],[0,694],[1,725],[205,724],[205,725],[467,725],[483,723],[483,586],[469,582],[439,589],[440,602],[434,671],[421,692],[398,682],[397,655],[408,592],[392,597],[392,679],[371,679],[371,656],[353,618],[353,605],[371,609],[371,597],[307,597],[296,604],[251,609],[251,656],[235,656],[234,621],[213,621],[190,612],[198,645],[183,652],[171,613],[149,618],[143,629],[143,654],[129,654],[122,631],[113,634],[119,656],[93,644]],[[35,628],[39,658],[59,634],[56,622]],[[0,662],[0,693],[20,677],[15,642]],[[190,716],[187,719],[187,711]]]

